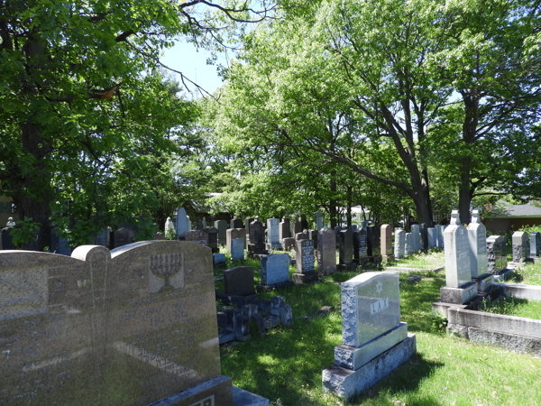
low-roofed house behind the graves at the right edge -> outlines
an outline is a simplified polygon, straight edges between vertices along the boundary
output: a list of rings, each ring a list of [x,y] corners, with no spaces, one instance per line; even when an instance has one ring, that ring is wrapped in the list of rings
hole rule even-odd
[[[530,204],[511,205],[500,200],[496,205],[485,207],[482,218],[487,231],[504,234],[522,226],[541,226],[541,208]]]

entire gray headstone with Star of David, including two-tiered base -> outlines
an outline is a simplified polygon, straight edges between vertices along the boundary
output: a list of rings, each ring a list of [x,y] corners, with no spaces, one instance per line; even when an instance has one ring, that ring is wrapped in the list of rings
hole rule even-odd
[[[397,273],[365,272],[341,289],[343,344],[335,346],[335,365],[322,381],[324,390],[349,401],[414,355],[416,340],[400,322]]]

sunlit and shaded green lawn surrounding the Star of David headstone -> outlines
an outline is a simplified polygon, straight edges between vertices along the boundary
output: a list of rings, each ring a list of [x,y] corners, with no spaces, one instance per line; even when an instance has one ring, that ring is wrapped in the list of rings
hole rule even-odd
[[[245,264],[259,266],[257,261]],[[289,267],[294,272],[294,267]],[[541,359],[493,346],[470,343],[433,331],[432,302],[439,299],[445,275],[435,272],[400,274],[401,319],[416,334],[417,354],[395,372],[352,401],[353,405],[460,406],[535,405],[541,392]],[[324,392],[322,370],[335,362],[342,343],[340,286],[358,272],[335,272],[315,284],[297,285],[261,294],[280,295],[293,308],[294,323],[238,346],[221,347],[222,374],[233,383],[271,400],[271,405],[335,406],[344,401]],[[422,281],[409,284],[413,274]],[[254,272],[254,281],[259,274]],[[303,319],[324,305],[328,316]]]

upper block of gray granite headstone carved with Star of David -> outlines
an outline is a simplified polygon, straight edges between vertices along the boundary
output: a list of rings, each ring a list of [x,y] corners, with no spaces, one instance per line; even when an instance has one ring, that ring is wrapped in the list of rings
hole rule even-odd
[[[400,324],[397,273],[365,272],[342,283],[342,337],[359,347]]]

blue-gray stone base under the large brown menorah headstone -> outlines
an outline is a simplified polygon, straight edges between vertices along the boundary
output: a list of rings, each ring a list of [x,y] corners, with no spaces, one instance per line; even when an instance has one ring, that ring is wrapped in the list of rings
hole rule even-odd
[[[211,400],[214,402],[209,402]],[[231,378],[218,375],[186,391],[155,401],[149,406],[191,406],[198,402],[206,404],[205,401],[215,406],[234,406]]]

